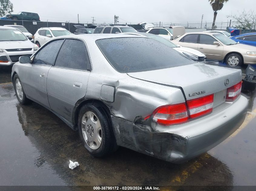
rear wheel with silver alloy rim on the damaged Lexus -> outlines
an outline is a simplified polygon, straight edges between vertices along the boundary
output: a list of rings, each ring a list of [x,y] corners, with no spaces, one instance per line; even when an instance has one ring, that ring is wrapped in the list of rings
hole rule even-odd
[[[116,140],[111,123],[99,104],[88,103],[78,115],[78,132],[88,153],[103,157],[116,149]]]

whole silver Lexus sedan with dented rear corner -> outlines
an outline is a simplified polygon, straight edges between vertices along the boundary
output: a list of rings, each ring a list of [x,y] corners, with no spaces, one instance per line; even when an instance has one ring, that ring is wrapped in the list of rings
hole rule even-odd
[[[248,105],[241,77],[129,34],[58,37],[12,68],[18,101],[33,100],[78,130],[91,155],[122,146],[173,163],[238,129]]]

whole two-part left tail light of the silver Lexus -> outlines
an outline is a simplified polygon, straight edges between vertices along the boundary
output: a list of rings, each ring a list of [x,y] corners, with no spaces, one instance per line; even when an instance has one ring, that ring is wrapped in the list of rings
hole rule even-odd
[[[186,103],[158,107],[153,113],[153,121],[168,126],[185,123],[189,118],[196,118],[212,112],[214,94],[189,100]],[[147,116],[145,119],[148,119]]]

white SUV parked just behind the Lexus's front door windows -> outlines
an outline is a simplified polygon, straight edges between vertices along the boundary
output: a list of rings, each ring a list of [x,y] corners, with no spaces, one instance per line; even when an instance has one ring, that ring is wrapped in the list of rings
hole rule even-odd
[[[47,43],[49,40],[52,40],[54,37],[63,36],[63,35],[73,35],[65,28],[61,27],[42,27],[38,29],[34,35],[35,44],[40,47]]]

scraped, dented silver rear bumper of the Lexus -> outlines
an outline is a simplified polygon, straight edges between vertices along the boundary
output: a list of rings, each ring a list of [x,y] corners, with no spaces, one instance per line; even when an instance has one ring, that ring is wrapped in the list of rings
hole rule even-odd
[[[112,122],[119,146],[182,163],[209,151],[237,130],[244,122],[247,105],[247,98],[240,96],[220,112],[178,126],[157,125],[155,130],[115,116]]]

